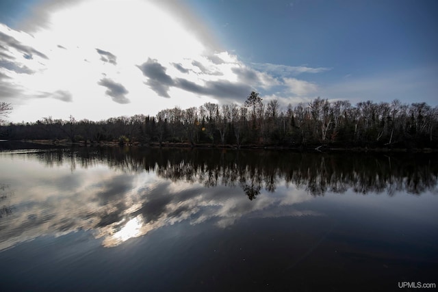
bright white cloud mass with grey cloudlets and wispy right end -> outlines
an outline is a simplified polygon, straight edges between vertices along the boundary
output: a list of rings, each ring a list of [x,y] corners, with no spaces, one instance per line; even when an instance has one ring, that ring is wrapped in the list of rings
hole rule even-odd
[[[11,120],[155,116],[175,106],[244,103],[253,90],[308,96],[316,85],[276,72],[329,70],[243,64],[214,47],[213,34],[187,7],[175,5],[72,1],[27,18],[31,34],[0,25],[0,101],[12,103]]]

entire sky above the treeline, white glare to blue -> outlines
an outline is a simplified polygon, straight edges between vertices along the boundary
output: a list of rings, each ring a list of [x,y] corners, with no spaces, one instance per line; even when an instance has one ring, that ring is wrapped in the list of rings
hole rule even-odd
[[[434,0],[0,0],[9,122],[313,98],[438,105]]]

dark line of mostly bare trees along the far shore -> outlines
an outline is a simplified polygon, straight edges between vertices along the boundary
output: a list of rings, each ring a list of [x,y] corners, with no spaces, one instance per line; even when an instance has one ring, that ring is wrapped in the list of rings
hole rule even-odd
[[[63,140],[86,144],[183,143],[214,146],[437,148],[438,107],[315,98],[281,109],[251,92],[244,105],[205,103],[164,109],[156,116],[120,116],[94,122],[42,118],[1,127],[9,140]]]

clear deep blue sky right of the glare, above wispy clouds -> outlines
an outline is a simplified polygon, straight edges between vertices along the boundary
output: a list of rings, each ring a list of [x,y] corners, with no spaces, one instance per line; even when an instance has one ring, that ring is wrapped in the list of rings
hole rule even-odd
[[[438,61],[436,1],[191,3],[244,62],[329,67],[335,78]]]

